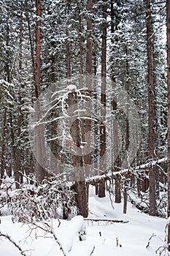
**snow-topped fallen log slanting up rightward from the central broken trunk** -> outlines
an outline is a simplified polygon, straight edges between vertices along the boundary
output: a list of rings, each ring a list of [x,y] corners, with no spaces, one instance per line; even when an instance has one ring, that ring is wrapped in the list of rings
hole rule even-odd
[[[143,165],[138,165],[134,168],[126,168],[126,169],[121,169],[115,172],[110,172],[112,169],[114,168],[118,168],[118,167],[110,167],[109,170],[107,170],[106,173],[102,174],[101,176],[93,176],[91,178],[87,178],[86,182],[88,184],[94,184],[94,183],[98,183],[101,180],[107,181],[113,178],[116,178],[117,175],[124,175],[125,173],[136,173],[136,172],[141,172],[142,170],[146,170],[149,169],[150,167],[153,167],[155,165],[159,165],[163,162],[167,162],[167,157],[163,157],[161,159],[152,161],[152,162],[148,162],[147,164],[143,164]]]

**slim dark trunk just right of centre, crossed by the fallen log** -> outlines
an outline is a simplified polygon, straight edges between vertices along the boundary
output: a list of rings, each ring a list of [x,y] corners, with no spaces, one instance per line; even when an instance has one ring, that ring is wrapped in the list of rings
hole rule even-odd
[[[101,42],[101,127],[100,127],[100,170],[106,170],[106,73],[107,73],[107,1],[103,5],[104,25],[102,29]],[[105,184],[101,181],[98,189],[98,196],[105,197]]]

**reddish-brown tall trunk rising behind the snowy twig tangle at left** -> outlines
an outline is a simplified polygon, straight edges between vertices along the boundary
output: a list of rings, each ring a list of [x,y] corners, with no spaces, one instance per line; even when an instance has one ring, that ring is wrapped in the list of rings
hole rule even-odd
[[[36,76],[35,76],[35,96],[36,99],[40,95],[40,78],[41,78],[41,1],[36,0]],[[36,121],[40,118],[40,105],[39,101],[36,100]],[[41,183],[45,178],[45,140],[43,137],[43,127],[42,125],[35,127],[35,150],[36,150],[36,178],[38,183]]]

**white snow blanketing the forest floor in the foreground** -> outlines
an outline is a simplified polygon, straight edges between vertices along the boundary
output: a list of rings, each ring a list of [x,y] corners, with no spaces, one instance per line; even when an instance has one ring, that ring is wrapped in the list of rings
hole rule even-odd
[[[127,223],[107,223],[84,221],[86,240],[80,241],[78,231],[83,229],[82,218],[71,221],[53,220],[53,230],[66,251],[67,256],[153,256],[164,245],[166,219],[150,217],[141,213],[131,203],[128,212],[123,214],[123,204],[114,203],[112,209],[109,195],[98,198],[95,189],[90,188],[89,218],[118,219]],[[11,217],[1,217],[1,233],[8,233],[20,244],[28,256],[61,256],[63,253],[51,234],[43,230],[31,230],[28,225],[12,223]],[[150,237],[150,245],[146,248]],[[19,256],[19,250],[7,238],[0,238],[1,256]],[[93,252],[93,254],[91,254]],[[164,253],[163,253],[164,255]],[[168,255],[168,253],[166,254]]]

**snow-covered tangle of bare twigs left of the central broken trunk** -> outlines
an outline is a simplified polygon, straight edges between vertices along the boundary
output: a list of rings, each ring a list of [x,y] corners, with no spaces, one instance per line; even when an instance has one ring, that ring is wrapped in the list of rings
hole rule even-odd
[[[12,194],[8,206],[14,221],[67,219],[69,214],[77,212],[74,192],[66,181],[60,179],[49,178],[38,187],[34,184],[22,184]]]

